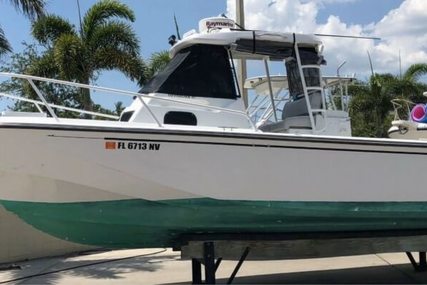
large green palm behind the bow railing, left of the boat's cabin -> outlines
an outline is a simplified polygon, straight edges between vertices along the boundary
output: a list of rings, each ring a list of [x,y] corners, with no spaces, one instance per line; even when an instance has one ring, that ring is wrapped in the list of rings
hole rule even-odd
[[[116,0],[93,5],[84,15],[79,31],[59,16],[38,19],[32,34],[46,52],[28,72],[89,84],[101,70],[117,69],[142,83],[145,65],[137,36],[127,21],[135,21],[133,11]],[[90,91],[82,89],[80,96],[82,107],[92,110]]]

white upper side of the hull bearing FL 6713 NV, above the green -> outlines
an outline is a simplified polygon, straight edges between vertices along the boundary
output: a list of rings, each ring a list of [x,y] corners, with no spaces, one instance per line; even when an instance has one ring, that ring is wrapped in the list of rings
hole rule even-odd
[[[1,183],[17,189],[2,193],[1,198],[47,202],[108,200],[108,195],[112,199],[147,200],[427,200],[419,179],[427,160],[423,143],[232,132],[118,131],[1,128]],[[115,144],[116,149],[107,149],[107,144]],[[143,149],[145,145],[147,149]],[[71,188],[63,186],[68,184],[84,190],[71,195]],[[89,188],[104,192],[104,196],[96,191],[89,194],[93,192],[87,191]]]

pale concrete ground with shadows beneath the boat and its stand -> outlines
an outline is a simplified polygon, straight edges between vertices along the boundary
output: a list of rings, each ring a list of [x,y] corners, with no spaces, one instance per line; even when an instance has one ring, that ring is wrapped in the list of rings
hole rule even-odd
[[[223,261],[226,283],[235,261]],[[92,252],[16,263],[0,284],[191,284],[191,261],[171,249]],[[247,261],[234,284],[425,284],[404,253],[287,261]]]

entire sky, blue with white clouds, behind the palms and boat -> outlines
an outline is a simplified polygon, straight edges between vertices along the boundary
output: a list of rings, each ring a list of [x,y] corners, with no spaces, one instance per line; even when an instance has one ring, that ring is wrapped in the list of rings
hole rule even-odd
[[[31,43],[29,21],[0,0],[0,25],[15,51]],[[80,0],[84,13],[96,0]],[[198,21],[222,13],[235,15],[235,0],[122,0],[136,14],[133,28],[141,41],[141,54],[169,48],[175,33],[174,14],[181,34],[197,29]],[[370,74],[367,51],[375,72],[399,74],[413,63],[427,62],[427,0],[245,0],[246,28],[297,33],[375,36],[380,41],[322,37],[328,65],[323,74],[334,75],[343,61],[342,75],[366,79]],[[78,26],[76,0],[50,0],[47,11]],[[3,58],[7,60],[7,58]],[[119,72],[103,72],[97,85],[135,91],[135,83]],[[98,100],[95,98],[95,100]],[[105,99],[102,99],[105,100]],[[116,100],[117,101],[117,100]],[[105,100],[111,105],[113,100]]]

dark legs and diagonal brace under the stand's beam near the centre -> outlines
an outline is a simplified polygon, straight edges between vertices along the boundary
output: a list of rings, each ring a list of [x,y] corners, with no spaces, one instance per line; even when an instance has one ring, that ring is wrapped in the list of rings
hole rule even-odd
[[[236,267],[233,270],[230,278],[227,281],[227,284],[231,284],[239,272],[240,267],[245,261],[246,257],[249,254],[249,247],[245,249],[242,256],[239,259]],[[215,284],[216,277],[215,273],[218,270],[219,265],[221,264],[222,258],[217,258],[215,260],[215,243],[214,242],[204,242],[203,243],[203,259],[192,258],[192,284],[203,284],[202,282],[202,264],[205,267],[205,284]]]

